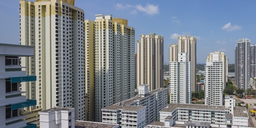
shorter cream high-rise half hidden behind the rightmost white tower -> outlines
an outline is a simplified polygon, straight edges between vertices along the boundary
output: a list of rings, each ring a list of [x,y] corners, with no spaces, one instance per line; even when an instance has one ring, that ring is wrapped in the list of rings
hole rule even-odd
[[[226,82],[228,82],[228,57],[224,54],[224,52],[212,52],[206,58],[206,62],[212,62],[214,57],[219,57],[219,61],[222,62],[222,82],[223,82],[223,90],[225,89]],[[217,58],[216,58],[217,59]]]

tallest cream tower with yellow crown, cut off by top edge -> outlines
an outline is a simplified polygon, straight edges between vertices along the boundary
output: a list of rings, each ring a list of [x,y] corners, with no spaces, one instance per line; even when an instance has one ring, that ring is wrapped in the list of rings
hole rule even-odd
[[[37,76],[22,91],[35,96],[37,108],[71,107],[76,120],[85,120],[84,11],[74,0],[20,0],[20,33],[21,44],[35,46],[22,66]]]

